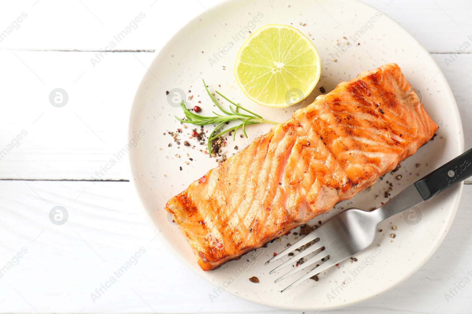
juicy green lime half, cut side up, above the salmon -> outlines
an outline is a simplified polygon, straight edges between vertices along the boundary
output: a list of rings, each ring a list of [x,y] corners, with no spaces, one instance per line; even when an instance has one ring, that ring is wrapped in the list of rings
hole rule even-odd
[[[320,55],[295,27],[271,24],[254,32],[238,52],[235,76],[244,94],[268,107],[302,101],[320,79]]]

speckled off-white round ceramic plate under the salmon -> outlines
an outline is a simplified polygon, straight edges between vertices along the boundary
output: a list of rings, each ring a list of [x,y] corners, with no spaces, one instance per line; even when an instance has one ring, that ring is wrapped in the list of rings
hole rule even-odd
[[[169,198],[217,166],[215,158],[210,159],[199,151],[200,148],[204,150],[205,146],[196,145],[195,149],[184,146],[185,140],[191,145],[196,144],[196,141],[188,138],[192,128],[190,125],[183,129],[179,137],[180,145],[167,134],[168,131],[182,128],[174,115],[182,117],[183,114],[180,108],[169,105],[166,91],[184,90],[185,97],[193,95],[192,100],[186,101],[187,107],[200,105],[203,113],[209,113],[210,109],[216,107],[212,106],[204,92],[204,78],[212,91],[218,89],[266,119],[285,121],[296,110],[293,107],[283,110],[256,105],[244,96],[236,84],[234,63],[239,47],[249,35],[247,31],[254,31],[267,24],[293,25],[308,35],[318,48],[321,78],[308,102],[311,103],[320,94],[320,87],[329,92],[340,81],[347,81],[364,70],[395,62],[400,65],[413,87],[421,92],[426,110],[440,126],[438,136],[432,142],[402,162],[402,168],[395,174],[401,174],[401,180],[388,174],[373,189],[359,193],[350,201],[339,203],[331,212],[315,218],[310,225],[317,224],[319,220],[326,221],[349,207],[379,207],[381,202],[387,200],[384,198],[387,181],[393,184],[391,193],[398,193],[463,152],[462,124],[446,79],[430,54],[395,21],[360,1],[270,2],[234,0],[209,8],[208,12],[186,24],[156,53],[149,72],[144,75],[137,90],[131,111],[129,137],[139,130],[145,132],[137,147],[130,151],[133,181],[151,224],[156,232],[161,232],[160,239],[186,266],[214,285],[240,298],[270,307],[316,311],[319,308],[326,310],[353,305],[404,282],[431,257],[451,226],[462,185],[421,204],[422,218],[417,225],[405,222],[408,221],[404,219],[407,214],[399,214],[384,221],[379,226],[383,232],[377,234],[370,248],[355,256],[357,262],[346,260],[338,267],[320,274],[318,282],[308,280],[283,294],[279,291],[291,282],[285,280],[274,284],[278,275],[269,275],[270,266],[265,267],[263,263],[287,243],[293,243],[293,233],[282,237],[280,242],[270,243],[255,259],[255,263],[251,259],[253,265],[246,262],[254,256],[254,252],[250,252],[239,261],[203,272],[184,236],[176,225],[169,223],[169,215],[164,209]],[[238,33],[244,38],[240,38]],[[357,33],[355,39],[354,33]],[[336,40],[339,45],[335,44]],[[347,41],[350,45],[345,44]],[[337,56],[330,55],[336,53]],[[331,64],[328,58],[336,58],[337,62]],[[239,133],[236,142],[228,137],[226,154],[230,156],[236,153],[236,145],[242,149],[269,129],[269,125],[255,125],[247,128],[250,139],[240,138]],[[193,158],[193,161],[188,158]],[[185,164],[185,161],[189,164]],[[421,166],[417,168],[416,164]],[[396,231],[392,230],[393,225]],[[393,242],[391,233],[396,233]],[[375,258],[372,258],[371,253],[376,249]],[[250,282],[248,278],[252,276],[257,276],[259,283]]]

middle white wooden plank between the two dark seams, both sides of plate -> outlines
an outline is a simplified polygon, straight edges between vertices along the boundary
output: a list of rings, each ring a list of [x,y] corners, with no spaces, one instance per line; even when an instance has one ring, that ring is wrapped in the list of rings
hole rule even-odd
[[[153,54],[113,53],[95,68],[88,64],[92,52],[15,54],[0,52],[5,73],[0,84],[8,91],[1,95],[0,151],[22,130],[28,134],[18,147],[0,156],[0,178],[90,180],[98,177],[96,171],[102,171],[104,179],[129,179],[126,156],[118,160],[114,154],[128,142],[131,102],[147,71],[143,64],[151,62]],[[461,55],[449,67],[445,55],[433,57],[453,89],[463,121],[470,120],[472,74],[468,69],[472,68],[472,55]],[[56,108],[49,102],[49,94],[56,88],[69,95],[64,107]],[[463,124],[465,146],[472,147],[471,124]],[[110,159],[117,164],[105,173],[101,169]]]

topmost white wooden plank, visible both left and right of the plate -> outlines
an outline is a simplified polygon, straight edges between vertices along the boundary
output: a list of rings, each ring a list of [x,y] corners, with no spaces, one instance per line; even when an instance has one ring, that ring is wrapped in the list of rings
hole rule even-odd
[[[111,50],[160,49],[187,21],[218,4],[218,0],[200,1],[13,1],[4,4],[0,19],[4,29],[22,12],[27,17],[19,28],[0,42],[4,49],[97,50],[107,49],[113,36],[123,31],[140,12],[145,17]],[[271,6],[269,6],[269,4]],[[450,5],[446,0],[364,0],[404,26],[430,52],[453,52],[472,35],[472,3]],[[436,3],[435,3],[436,2]],[[287,6],[287,0],[256,1],[264,14],[273,7]],[[440,23],[438,23],[440,21]],[[8,22],[8,23],[7,23]],[[224,22],[223,22],[224,24]],[[3,31],[2,29],[1,31]],[[320,30],[322,32],[322,30]],[[386,33],[388,36],[388,32]],[[472,40],[469,40],[472,43]],[[471,48],[467,50],[471,52]]]

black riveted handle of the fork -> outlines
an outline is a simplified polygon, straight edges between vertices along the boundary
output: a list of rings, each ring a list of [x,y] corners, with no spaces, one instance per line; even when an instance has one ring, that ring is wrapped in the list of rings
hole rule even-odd
[[[422,177],[414,185],[423,200],[426,201],[470,176],[472,176],[472,149],[434,170],[426,177]]]

